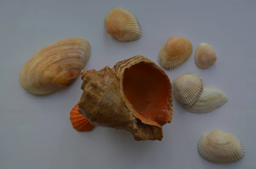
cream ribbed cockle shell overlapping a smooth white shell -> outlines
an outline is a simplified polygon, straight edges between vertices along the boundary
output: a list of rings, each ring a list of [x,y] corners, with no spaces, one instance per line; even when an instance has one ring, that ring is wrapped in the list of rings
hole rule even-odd
[[[204,82],[195,73],[185,73],[173,81],[174,95],[180,103],[191,106],[198,100],[204,89]]]

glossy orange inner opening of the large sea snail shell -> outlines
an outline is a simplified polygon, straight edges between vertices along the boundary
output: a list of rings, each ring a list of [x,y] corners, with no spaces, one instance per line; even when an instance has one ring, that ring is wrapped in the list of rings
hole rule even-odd
[[[123,76],[123,92],[137,116],[151,124],[168,122],[169,80],[153,63],[140,62],[128,68]]]

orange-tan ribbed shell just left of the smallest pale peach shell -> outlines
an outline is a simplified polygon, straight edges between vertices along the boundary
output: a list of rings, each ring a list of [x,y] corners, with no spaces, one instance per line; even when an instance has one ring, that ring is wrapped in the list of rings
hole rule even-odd
[[[192,43],[184,37],[170,37],[158,54],[158,62],[168,70],[186,62],[193,51]]]

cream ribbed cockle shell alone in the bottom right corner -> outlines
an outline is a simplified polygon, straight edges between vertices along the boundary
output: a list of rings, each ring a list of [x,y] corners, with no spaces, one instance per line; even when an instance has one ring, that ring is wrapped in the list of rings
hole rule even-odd
[[[213,163],[231,163],[244,157],[244,147],[231,133],[213,130],[198,141],[199,154]]]

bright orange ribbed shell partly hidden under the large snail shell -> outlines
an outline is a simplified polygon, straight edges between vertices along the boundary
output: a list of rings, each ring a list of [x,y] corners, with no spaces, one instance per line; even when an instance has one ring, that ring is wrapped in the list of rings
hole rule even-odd
[[[70,111],[70,122],[74,129],[79,132],[89,132],[93,130],[94,126],[90,124],[83,115],[78,112],[78,105],[76,104],[75,107]]]

